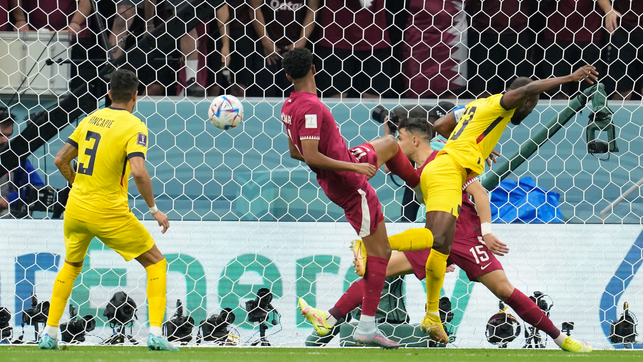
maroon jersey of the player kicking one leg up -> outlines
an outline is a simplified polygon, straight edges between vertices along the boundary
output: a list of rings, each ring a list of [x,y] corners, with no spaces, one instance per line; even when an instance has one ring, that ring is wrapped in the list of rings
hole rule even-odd
[[[281,118],[288,138],[304,158],[302,140],[319,140],[318,150],[322,155],[339,161],[359,162],[341,137],[331,111],[316,94],[293,91],[282,106]],[[312,166],[311,170],[317,174],[317,182],[331,200],[337,195],[354,193],[367,184],[365,175],[353,171],[331,171]]]

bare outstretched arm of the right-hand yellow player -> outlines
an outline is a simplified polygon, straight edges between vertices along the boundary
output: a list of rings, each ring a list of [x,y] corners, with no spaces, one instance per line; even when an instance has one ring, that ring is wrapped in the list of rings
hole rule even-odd
[[[594,81],[598,80],[597,75],[599,75],[599,72],[596,71],[595,66],[582,66],[574,71],[574,73],[565,75],[565,77],[541,79],[540,81],[533,81],[526,86],[508,91],[502,96],[502,99],[500,99],[500,104],[502,104],[505,110],[512,110],[523,104],[525,99],[529,97],[538,97],[540,93],[567,82],[578,82],[584,80],[590,82],[590,84],[594,84]]]

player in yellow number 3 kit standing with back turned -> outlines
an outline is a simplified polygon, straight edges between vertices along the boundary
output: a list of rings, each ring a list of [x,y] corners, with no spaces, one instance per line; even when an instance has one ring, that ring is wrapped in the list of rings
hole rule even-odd
[[[94,237],[129,261],[136,259],[147,271],[150,350],[179,350],[163,337],[167,262],[150,233],[132,214],[127,202],[130,173],[165,233],[167,216],[156,207],[150,176],[145,169],[147,127],[132,115],[138,79],[131,71],[117,70],[109,83],[111,106],[87,115],[56,155],[55,164],[71,184],[64,216],[65,262],[53,285],[47,325],[39,347],[59,349],[60,318],[74,281]],[[78,157],[78,170],[71,160]]]

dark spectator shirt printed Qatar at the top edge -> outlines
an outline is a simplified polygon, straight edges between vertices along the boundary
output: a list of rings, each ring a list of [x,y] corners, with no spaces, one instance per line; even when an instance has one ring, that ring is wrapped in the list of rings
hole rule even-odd
[[[303,29],[303,19],[307,7],[304,0],[266,0],[261,6],[261,12],[266,21],[268,37],[277,47],[284,49],[300,39]]]

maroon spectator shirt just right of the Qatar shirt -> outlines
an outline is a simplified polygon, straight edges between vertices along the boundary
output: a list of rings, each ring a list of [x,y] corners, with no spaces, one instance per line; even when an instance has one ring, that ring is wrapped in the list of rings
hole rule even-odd
[[[388,48],[384,0],[365,9],[359,0],[326,0],[317,19],[323,34],[318,44],[327,48],[371,50]]]

